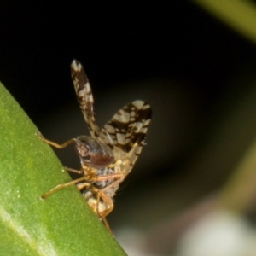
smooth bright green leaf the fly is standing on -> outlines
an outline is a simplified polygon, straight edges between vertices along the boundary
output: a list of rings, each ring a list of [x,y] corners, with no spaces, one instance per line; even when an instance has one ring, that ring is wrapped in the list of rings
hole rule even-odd
[[[0,84],[0,255],[125,255]]]

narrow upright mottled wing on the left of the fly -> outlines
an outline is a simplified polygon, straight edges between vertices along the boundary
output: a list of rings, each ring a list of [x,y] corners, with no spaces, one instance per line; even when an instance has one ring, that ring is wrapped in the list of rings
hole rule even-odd
[[[79,106],[84,114],[84,119],[88,125],[91,137],[99,137],[100,129],[96,125],[94,113],[94,101],[90,89],[89,80],[84,72],[84,67],[79,61],[73,60],[71,63],[71,76],[78,98]]]

